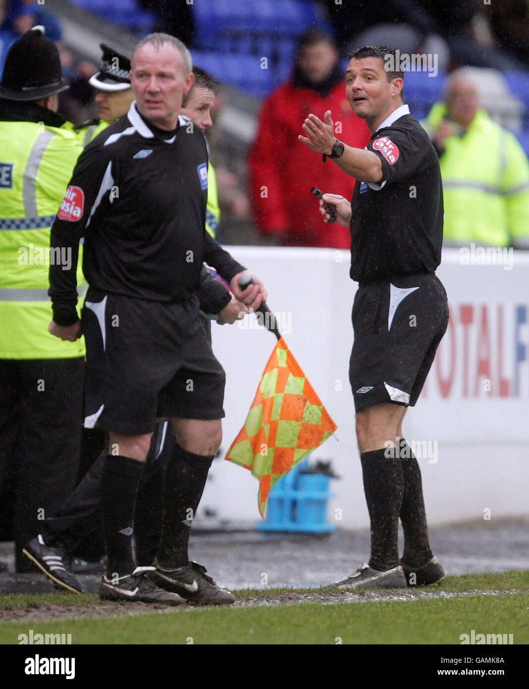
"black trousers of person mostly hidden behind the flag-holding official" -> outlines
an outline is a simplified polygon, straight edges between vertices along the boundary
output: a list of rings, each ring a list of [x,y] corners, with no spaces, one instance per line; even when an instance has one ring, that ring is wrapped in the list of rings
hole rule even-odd
[[[147,463],[138,487],[134,533],[138,565],[150,565],[158,551],[162,519],[163,475],[174,447],[174,431],[169,422],[156,424]],[[100,484],[106,446],[87,471],[75,491],[53,517],[42,524],[46,542],[61,544],[68,553],[97,560],[105,553],[101,526]]]

